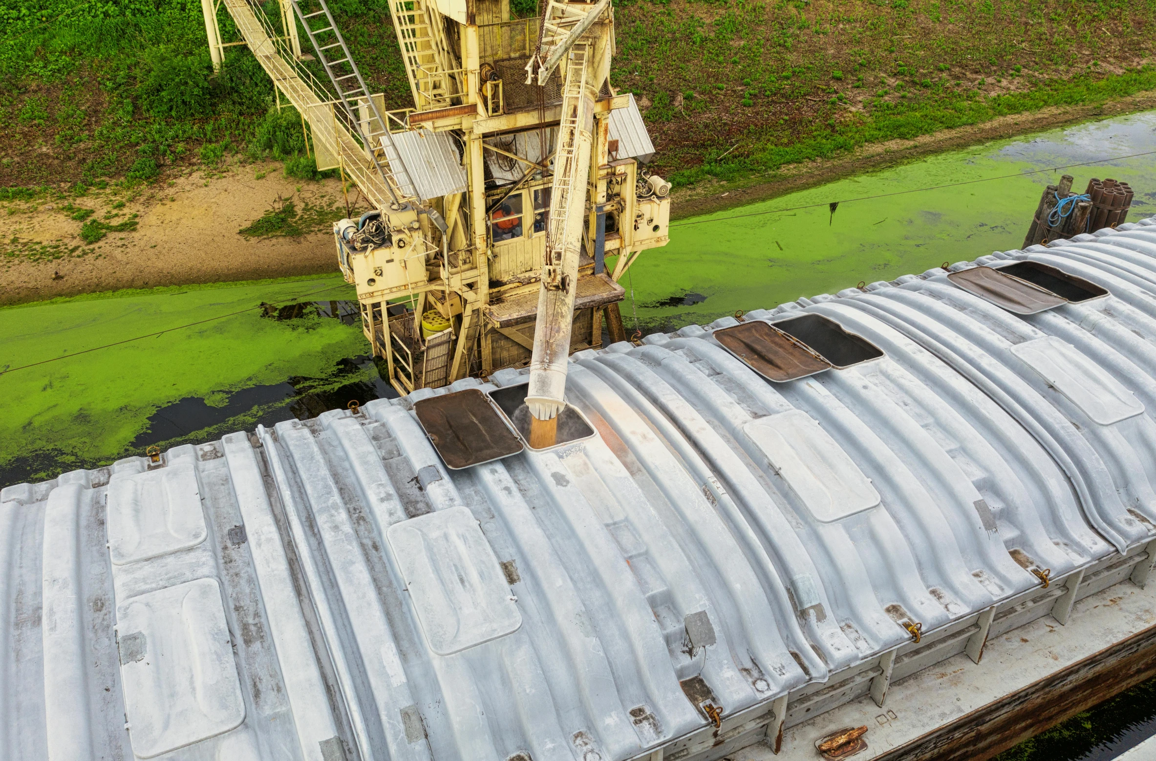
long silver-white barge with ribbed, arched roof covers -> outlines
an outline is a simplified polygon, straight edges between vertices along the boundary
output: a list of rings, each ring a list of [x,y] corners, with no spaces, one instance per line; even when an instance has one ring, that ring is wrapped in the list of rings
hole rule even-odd
[[[0,756],[718,759],[1064,623],[1151,567],[1149,229],[985,258],[1111,291],[1028,318],[940,269],[748,315],[883,352],[798,381],[733,318],[577,354],[596,435],[461,471],[413,404],[523,374],[8,487]]]

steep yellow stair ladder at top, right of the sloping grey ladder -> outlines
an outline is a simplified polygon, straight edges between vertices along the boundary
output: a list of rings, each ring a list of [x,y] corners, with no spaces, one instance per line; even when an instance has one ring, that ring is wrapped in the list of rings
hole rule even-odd
[[[429,0],[390,0],[390,16],[398,32],[398,44],[409,76],[409,91],[418,111],[450,105],[453,80],[445,30],[430,19]]]

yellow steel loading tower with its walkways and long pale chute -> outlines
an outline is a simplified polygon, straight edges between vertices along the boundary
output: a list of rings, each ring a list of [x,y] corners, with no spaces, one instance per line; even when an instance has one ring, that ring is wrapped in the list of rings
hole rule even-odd
[[[231,44],[222,5],[309,123],[318,169],[372,206],[334,237],[391,384],[528,365],[533,416],[553,419],[568,356],[600,346],[603,320],[625,339],[618,280],[668,239],[669,184],[643,165],[654,148],[633,96],[609,83],[609,0],[546,0],[531,19],[509,0],[391,0],[414,101],[393,111],[325,0],[280,0],[277,20],[202,0],[215,65]]]

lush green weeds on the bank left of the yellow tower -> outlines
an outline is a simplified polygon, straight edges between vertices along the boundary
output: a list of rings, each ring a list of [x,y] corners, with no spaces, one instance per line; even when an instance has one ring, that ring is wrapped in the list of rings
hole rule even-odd
[[[397,45],[381,44],[395,39],[386,1],[333,7],[371,86],[408,97]],[[264,6],[280,30],[276,0]],[[227,42],[240,39],[223,10],[220,23]],[[168,167],[214,168],[230,154],[284,161],[297,179],[327,176],[247,50],[227,49],[213,72],[200,7],[184,0],[0,0],[0,184],[153,183]]]

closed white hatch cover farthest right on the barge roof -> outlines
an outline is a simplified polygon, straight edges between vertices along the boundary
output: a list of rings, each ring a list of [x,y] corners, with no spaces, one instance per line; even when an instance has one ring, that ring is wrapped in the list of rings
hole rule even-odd
[[[1143,404],[1104,368],[1054,335],[1016,343],[1011,354],[1101,426],[1144,411]]]

